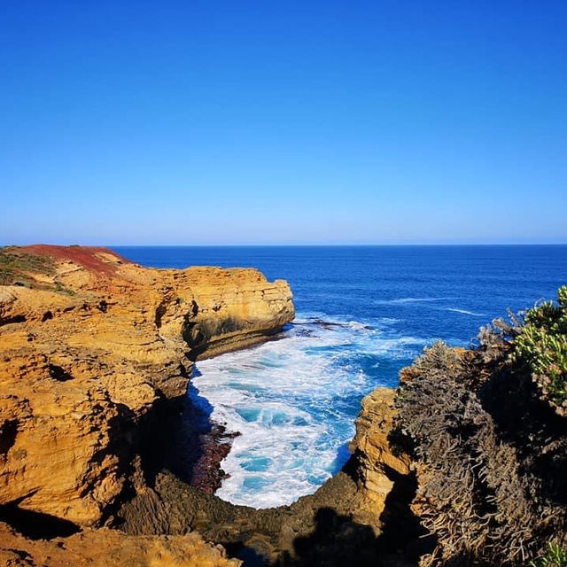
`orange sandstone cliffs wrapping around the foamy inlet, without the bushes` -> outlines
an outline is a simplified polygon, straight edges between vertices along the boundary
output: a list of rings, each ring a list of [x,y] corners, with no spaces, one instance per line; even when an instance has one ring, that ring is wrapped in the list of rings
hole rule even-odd
[[[0,563],[240,564],[219,542],[258,564],[397,556],[415,488],[391,447],[390,390],[363,400],[344,470],[289,507],[234,506],[185,478],[193,361],[271,338],[293,316],[288,284],[255,269],[1,249]]]

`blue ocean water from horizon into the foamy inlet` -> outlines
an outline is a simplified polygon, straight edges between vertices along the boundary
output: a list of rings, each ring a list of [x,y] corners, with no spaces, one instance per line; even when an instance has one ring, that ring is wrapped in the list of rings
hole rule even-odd
[[[239,431],[217,494],[266,508],[313,493],[348,458],[363,396],[442,339],[468,346],[494,317],[555,298],[567,245],[122,247],[157,268],[259,268],[291,284],[280,340],[197,363],[191,395]]]

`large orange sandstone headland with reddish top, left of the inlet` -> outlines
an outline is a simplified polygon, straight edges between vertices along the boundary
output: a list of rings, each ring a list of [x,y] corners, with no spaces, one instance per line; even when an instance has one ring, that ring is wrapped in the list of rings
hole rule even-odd
[[[291,321],[254,269],[142,268],[104,248],[1,251],[0,505],[100,524],[128,485],[141,424],[184,396],[192,361]]]

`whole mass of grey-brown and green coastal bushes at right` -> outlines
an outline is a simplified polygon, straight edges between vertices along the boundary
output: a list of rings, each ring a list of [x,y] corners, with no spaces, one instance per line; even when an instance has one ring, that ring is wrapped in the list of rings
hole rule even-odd
[[[437,541],[421,564],[565,564],[567,288],[558,298],[494,321],[474,349],[437,343],[402,371],[412,509]]]

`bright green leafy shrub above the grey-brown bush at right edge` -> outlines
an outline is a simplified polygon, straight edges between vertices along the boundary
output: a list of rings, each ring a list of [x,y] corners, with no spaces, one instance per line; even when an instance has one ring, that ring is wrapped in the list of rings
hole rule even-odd
[[[546,301],[524,315],[512,360],[527,365],[542,397],[558,413],[567,415],[567,286],[557,303]]]

